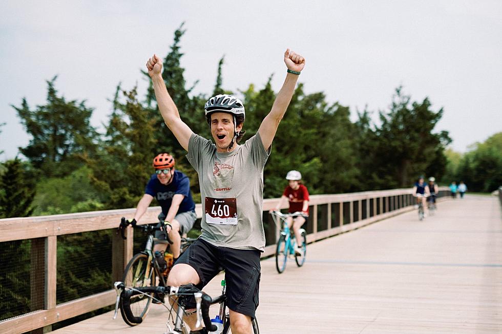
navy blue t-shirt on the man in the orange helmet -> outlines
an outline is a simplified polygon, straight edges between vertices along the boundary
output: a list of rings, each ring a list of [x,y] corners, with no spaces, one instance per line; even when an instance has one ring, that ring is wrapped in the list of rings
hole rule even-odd
[[[161,184],[159,179],[157,179],[157,175],[153,174],[144,193],[157,199],[157,202],[162,207],[162,213],[165,215],[168,214],[175,194],[185,196],[179,205],[178,213],[195,210],[195,203],[190,191],[190,179],[177,170],[174,171],[173,182],[168,185]]]

